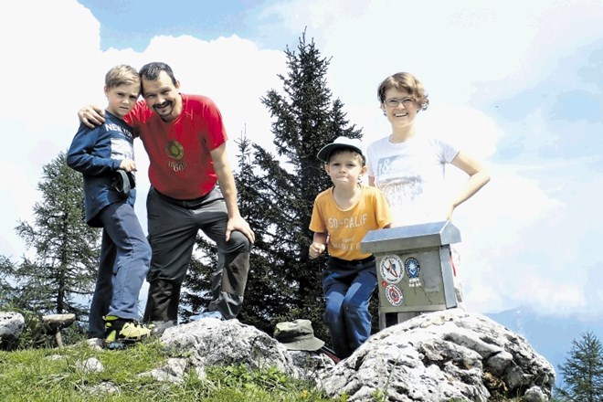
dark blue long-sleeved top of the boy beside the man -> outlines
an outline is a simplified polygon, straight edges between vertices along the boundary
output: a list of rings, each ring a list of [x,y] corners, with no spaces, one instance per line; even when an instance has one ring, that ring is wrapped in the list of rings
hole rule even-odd
[[[86,222],[102,227],[97,218],[105,206],[126,200],[111,184],[125,158],[134,159],[133,129],[120,118],[105,111],[105,122],[93,129],[83,123],[73,137],[67,153],[67,164],[84,175]],[[134,205],[136,190],[130,191],[128,204]]]

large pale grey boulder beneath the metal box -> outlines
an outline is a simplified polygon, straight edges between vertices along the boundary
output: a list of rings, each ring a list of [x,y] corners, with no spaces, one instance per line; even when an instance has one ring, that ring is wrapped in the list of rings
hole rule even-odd
[[[555,371],[522,336],[481,314],[450,309],[376,333],[321,385],[349,401],[545,401]]]

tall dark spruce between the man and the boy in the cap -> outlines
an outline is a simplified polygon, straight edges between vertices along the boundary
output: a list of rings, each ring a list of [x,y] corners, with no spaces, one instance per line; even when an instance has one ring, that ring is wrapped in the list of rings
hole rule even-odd
[[[316,153],[339,136],[361,138],[362,133],[346,120],[344,104],[333,100],[327,88],[329,60],[313,40],[306,41],[305,33],[296,50],[285,50],[282,90],[269,90],[261,99],[273,118],[276,154],[245,137],[238,142],[239,208],[256,234],[239,319],[268,333],[280,321],[309,319],[317,336],[327,340],[321,282],[325,256],[310,259],[309,226],[315,196],[332,183]],[[198,245],[212,251],[203,238]],[[197,269],[187,286],[198,295],[208,290],[198,287],[198,279],[209,267]]]

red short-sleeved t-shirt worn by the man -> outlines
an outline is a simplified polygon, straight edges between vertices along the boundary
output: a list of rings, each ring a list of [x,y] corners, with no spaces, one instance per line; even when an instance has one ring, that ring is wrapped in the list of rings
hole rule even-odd
[[[182,113],[164,122],[139,100],[124,120],[132,125],[149,154],[149,180],[176,199],[205,196],[216,185],[210,151],[227,141],[222,115],[213,100],[182,95]]]

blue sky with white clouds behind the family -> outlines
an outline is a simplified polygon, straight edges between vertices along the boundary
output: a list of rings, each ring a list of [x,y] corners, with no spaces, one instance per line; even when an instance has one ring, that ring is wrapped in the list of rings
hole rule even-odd
[[[23,0],[2,5],[0,255],[41,201],[42,166],[67,151],[77,111],[106,105],[116,64],[161,60],[181,90],[216,101],[235,141],[270,149],[268,90],[305,32],[330,60],[327,86],[365,143],[388,135],[376,88],[410,71],[428,91],[430,132],[488,165],[459,206],[466,307],[603,317],[603,2],[599,0]],[[27,106],[29,105],[29,106]],[[146,230],[148,159],[136,144]],[[450,191],[466,176],[448,172]]]

